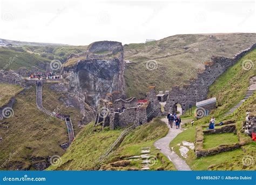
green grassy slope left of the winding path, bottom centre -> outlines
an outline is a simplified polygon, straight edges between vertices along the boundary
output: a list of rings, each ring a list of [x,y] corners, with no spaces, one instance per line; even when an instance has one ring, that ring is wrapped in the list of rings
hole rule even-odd
[[[51,166],[49,170],[92,170],[95,169],[95,161],[116,140],[123,129],[92,132],[93,123],[86,125],[78,134],[71,147],[62,156],[62,164]],[[140,154],[141,147],[151,147],[151,154],[157,157],[156,165],[151,169],[174,170],[173,164],[153,147],[153,142],[163,137],[168,132],[167,126],[159,119],[154,119],[134,129],[127,135],[122,145],[114,151],[107,161],[104,161],[102,170],[127,170],[140,169],[141,161],[129,161],[127,157]],[[98,168],[96,168],[98,169]]]

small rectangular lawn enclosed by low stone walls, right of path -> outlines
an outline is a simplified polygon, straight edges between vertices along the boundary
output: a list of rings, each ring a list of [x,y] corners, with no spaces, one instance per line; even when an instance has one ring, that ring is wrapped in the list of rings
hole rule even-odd
[[[234,133],[204,135],[204,148],[213,148],[219,145],[238,143],[238,136]]]

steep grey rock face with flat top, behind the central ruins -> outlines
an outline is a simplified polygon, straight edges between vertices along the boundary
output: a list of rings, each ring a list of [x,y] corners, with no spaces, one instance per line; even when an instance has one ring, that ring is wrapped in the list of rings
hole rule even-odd
[[[96,42],[90,45],[88,51],[86,60],[64,68],[68,73],[70,91],[84,98],[92,107],[96,107],[106,93],[117,91],[125,98],[122,44]]]

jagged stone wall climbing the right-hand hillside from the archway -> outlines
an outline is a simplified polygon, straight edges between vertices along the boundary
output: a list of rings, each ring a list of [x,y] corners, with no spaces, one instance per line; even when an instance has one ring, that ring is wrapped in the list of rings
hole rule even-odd
[[[198,74],[197,79],[191,79],[189,85],[179,87],[174,85],[169,92],[169,98],[166,101],[165,110],[174,112],[177,104],[181,105],[182,113],[184,114],[189,108],[189,105],[196,105],[197,101],[207,99],[208,87],[212,85],[221,74],[229,67],[234,65],[246,53],[254,50],[256,44],[250,48],[241,51],[233,58],[212,56],[212,61],[205,63],[205,70]]]

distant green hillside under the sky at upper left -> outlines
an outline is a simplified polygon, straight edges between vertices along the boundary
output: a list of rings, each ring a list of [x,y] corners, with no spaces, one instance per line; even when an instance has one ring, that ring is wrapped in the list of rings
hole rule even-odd
[[[0,69],[17,70],[19,67],[30,69],[32,66],[45,70],[46,64],[58,59],[65,63],[71,54],[81,54],[87,46],[15,46],[0,47]]]

